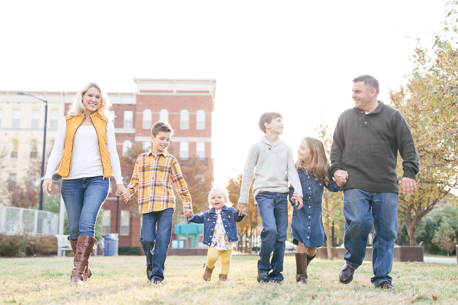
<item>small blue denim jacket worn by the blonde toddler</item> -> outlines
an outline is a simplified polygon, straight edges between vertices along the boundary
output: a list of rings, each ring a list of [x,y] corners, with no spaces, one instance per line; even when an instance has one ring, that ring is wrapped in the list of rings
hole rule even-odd
[[[228,208],[223,206],[221,208],[221,219],[223,220],[224,230],[228,235],[228,241],[238,241],[239,235],[237,234],[237,225],[236,222],[242,221],[246,216],[239,216],[238,212],[235,212],[234,208]],[[203,224],[203,238],[202,244],[210,246],[213,238],[213,230],[215,229],[216,220],[218,215],[215,212],[214,208],[209,209],[208,211],[203,212],[202,215],[193,215],[188,217],[187,223],[190,224],[194,222],[196,224]]]

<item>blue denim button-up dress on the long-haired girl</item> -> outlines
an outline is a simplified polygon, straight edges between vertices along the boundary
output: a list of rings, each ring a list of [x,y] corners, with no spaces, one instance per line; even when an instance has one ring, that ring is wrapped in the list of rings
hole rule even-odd
[[[324,180],[316,181],[316,177],[313,174],[302,170],[299,170],[298,174],[302,185],[302,193],[304,194],[304,207],[297,209],[297,206],[293,206],[293,218],[291,219],[293,243],[298,245],[300,241],[307,247],[319,247],[327,241],[321,211],[323,187],[334,193],[343,191],[344,188],[338,187],[330,175],[331,184],[326,185]],[[320,185],[320,182],[322,182],[322,185]],[[291,198],[294,188],[289,188],[289,198]]]

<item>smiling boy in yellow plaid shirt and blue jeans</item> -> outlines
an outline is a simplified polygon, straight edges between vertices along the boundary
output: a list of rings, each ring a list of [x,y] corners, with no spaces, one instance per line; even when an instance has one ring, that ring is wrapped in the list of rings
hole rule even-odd
[[[153,147],[137,157],[130,194],[138,191],[138,210],[142,214],[140,242],[146,255],[147,277],[151,284],[162,286],[164,263],[172,237],[172,219],[175,210],[175,190],[185,209],[192,210],[191,195],[181,174],[180,165],[165,149],[169,146],[173,129],[169,122],[158,121],[151,128]]]

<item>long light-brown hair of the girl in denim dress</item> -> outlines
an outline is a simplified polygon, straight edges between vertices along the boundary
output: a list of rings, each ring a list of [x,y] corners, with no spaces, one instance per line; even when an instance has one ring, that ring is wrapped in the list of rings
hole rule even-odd
[[[296,170],[307,170],[308,173],[315,175],[316,181],[324,179],[326,185],[329,185],[331,180],[327,175],[327,168],[331,164],[331,161],[324,149],[323,142],[313,137],[305,137],[302,141],[305,141],[310,149],[309,167],[305,169],[304,163],[298,160],[296,162]],[[322,185],[321,181],[320,185]]]

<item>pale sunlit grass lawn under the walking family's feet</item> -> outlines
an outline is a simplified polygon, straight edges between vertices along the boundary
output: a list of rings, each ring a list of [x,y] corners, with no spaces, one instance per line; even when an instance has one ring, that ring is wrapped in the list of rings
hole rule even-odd
[[[205,257],[167,257],[162,287],[151,287],[140,256],[91,257],[93,276],[71,287],[71,257],[0,258],[0,304],[458,304],[458,268],[438,263],[393,263],[397,291],[371,284],[371,263],[353,282],[338,282],[343,260],[315,259],[309,285],[295,283],[295,260],[285,256],[283,284],[258,284],[256,256],[233,256],[229,282],[219,284],[219,262],[210,282]]]

